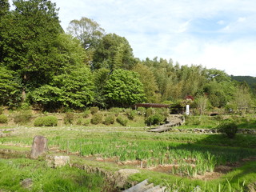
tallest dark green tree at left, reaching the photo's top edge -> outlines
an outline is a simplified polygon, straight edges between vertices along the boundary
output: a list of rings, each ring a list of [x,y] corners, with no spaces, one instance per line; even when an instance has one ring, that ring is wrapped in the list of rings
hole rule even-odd
[[[56,38],[62,32],[58,9],[47,0],[15,0],[15,10],[3,23],[3,63],[22,77],[26,89],[47,81],[59,67],[55,57]],[[25,98],[25,97],[23,97]]]

